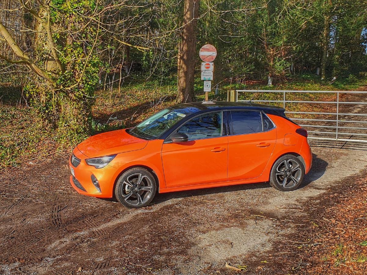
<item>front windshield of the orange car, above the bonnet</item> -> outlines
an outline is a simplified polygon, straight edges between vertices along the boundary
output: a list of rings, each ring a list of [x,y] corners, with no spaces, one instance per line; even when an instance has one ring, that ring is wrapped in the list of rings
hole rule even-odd
[[[154,139],[186,117],[187,114],[185,109],[164,109],[132,128],[129,133],[142,139]]]

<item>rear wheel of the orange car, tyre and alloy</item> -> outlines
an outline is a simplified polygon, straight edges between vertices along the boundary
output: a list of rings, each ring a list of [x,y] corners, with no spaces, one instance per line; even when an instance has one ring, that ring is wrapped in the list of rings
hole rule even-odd
[[[270,172],[270,185],[280,191],[293,191],[302,183],[305,168],[294,155],[280,157]]]

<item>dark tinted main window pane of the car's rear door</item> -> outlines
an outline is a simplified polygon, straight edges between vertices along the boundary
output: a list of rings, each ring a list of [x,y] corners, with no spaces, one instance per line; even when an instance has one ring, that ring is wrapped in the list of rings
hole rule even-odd
[[[261,114],[257,111],[231,111],[234,135],[262,132]]]

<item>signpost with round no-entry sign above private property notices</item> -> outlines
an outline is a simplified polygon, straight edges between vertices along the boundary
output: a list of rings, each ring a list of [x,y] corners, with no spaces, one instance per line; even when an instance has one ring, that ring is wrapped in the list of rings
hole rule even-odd
[[[211,90],[211,82],[213,80],[214,59],[217,57],[217,49],[213,45],[206,44],[201,47],[199,56],[201,60],[201,80],[204,80],[205,100],[208,101],[208,92]]]

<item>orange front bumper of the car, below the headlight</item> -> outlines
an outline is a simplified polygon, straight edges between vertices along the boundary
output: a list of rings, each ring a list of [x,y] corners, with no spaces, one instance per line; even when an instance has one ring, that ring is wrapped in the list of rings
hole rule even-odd
[[[72,165],[71,159],[69,159],[69,166],[73,168],[75,178],[70,176],[70,184],[80,194],[99,197],[99,198],[112,198],[114,175],[116,168],[106,165],[103,168],[95,168],[94,166],[87,165],[84,156],[78,148],[75,148],[73,154],[81,159],[80,164],[75,167]],[[98,180],[99,188],[92,183],[92,175]]]

